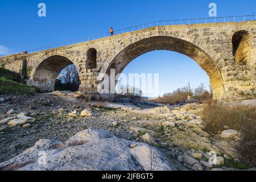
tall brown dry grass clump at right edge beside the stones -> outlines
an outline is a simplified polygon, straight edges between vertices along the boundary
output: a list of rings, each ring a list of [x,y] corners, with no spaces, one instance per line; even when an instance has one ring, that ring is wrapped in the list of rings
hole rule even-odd
[[[207,101],[201,113],[205,121],[205,130],[218,133],[229,129],[242,134],[238,151],[243,162],[256,166],[256,108],[245,106],[228,106],[222,102]]]

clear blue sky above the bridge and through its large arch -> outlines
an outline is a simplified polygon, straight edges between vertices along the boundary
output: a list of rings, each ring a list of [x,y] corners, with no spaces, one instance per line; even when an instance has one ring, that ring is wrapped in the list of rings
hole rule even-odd
[[[47,6],[45,18],[38,16],[40,2]],[[155,20],[208,17],[210,2],[217,4],[217,16],[256,13],[255,0],[0,0],[0,55],[108,32],[109,27],[117,30]],[[194,61],[168,51],[138,57],[125,72],[158,73],[160,70],[161,94],[191,80],[194,85],[208,80]],[[172,84],[166,84],[167,81]]]

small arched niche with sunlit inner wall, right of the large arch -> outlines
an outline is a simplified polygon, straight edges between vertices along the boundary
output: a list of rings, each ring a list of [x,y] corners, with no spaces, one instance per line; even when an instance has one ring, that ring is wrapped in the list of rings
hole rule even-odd
[[[245,30],[237,31],[232,37],[233,56],[236,63],[246,64],[249,60],[249,34]]]

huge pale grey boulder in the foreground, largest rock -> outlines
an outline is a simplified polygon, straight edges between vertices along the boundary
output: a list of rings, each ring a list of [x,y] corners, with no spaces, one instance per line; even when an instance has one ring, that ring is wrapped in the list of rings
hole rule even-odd
[[[34,147],[0,163],[17,171],[173,171],[155,147],[117,138],[109,131],[84,130],[65,142],[41,139]],[[134,143],[134,142],[133,142]],[[154,158],[152,160],[152,157]]]

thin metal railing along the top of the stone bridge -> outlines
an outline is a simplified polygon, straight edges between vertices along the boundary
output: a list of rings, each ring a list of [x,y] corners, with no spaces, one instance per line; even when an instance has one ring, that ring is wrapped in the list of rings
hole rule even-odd
[[[175,24],[243,22],[243,21],[248,21],[248,20],[255,20],[255,18],[256,18],[256,15],[243,15],[243,16],[223,16],[223,17],[212,17],[212,18],[163,20],[163,21],[156,21],[156,22],[151,22],[151,23],[146,23],[146,24],[140,24],[137,26],[129,27],[129,28],[123,28],[121,30],[114,31],[114,34],[115,35],[123,34],[125,32],[141,30],[143,28],[154,27],[154,26],[166,26],[166,25],[175,25]],[[33,53],[33,52],[45,51],[47,49],[69,46],[72,44],[77,44],[77,43],[81,43],[81,42],[87,42],[90,40],[105,38],[107,36],[110,36],[110,32],[107,32],[104,34],[98,34],[98,35],[94,35],[94,36],[88,36],[87,38],[72,40],[69,42],[59,43],[59,44],[55,44],[52,46],[30,49],[30,50],[27,50],[24,52]]]

